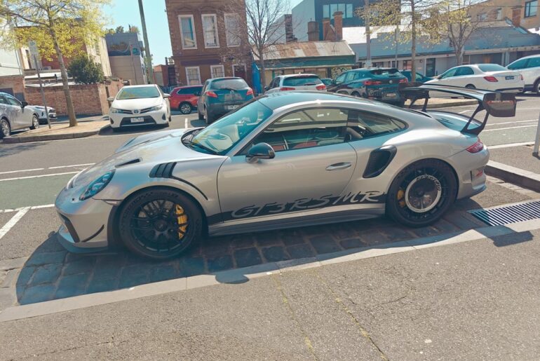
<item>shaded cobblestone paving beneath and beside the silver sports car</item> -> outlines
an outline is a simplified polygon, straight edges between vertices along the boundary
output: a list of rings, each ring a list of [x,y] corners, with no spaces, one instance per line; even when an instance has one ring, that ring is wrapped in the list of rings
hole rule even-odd
[[[100,256],[70,254],[51,236],[22,268],[4,271],[0,283],[4,288],[15,286],[20,304],[33,304],[267,262],[377,247],[483,225],[459,210],[450,212],[434,226],[421,229],[406,229],[384,218],[370,219],[209,238],[183,257],[170,261],[147,261],[127,251]]]

